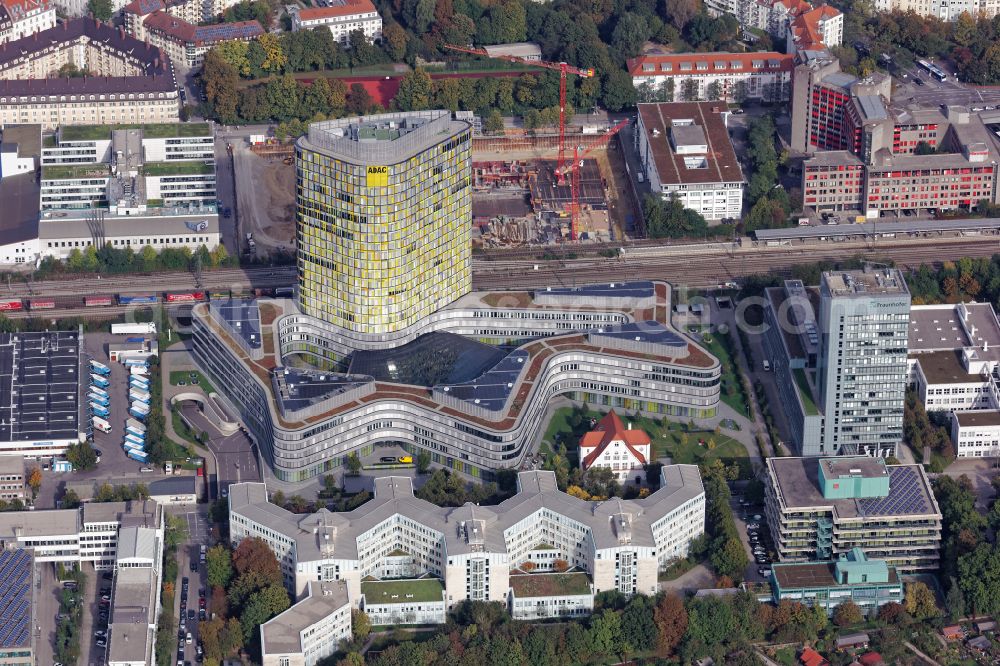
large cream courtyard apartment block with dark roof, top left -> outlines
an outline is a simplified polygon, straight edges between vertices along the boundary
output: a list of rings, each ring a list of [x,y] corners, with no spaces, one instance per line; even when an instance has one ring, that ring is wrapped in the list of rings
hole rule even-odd
[[[88,77],[49,78],[72,64]],[[0,44],[0,124],[177,122],[180,103],[164,53],[93,19]]]

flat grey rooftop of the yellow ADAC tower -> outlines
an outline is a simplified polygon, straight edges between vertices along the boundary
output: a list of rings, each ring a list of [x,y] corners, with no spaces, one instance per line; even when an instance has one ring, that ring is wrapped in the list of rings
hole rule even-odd
[[[309,125],[303,148],[360,164],[396,164],[469,129],[450,111],[383,113],[374,119],[341,118]]]

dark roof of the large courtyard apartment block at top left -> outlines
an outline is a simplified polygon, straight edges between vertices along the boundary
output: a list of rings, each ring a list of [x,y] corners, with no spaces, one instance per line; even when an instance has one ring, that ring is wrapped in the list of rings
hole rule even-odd
[[[82,37],[100,42],[123,54],[140,66],[144,74],[71,79],[3,79],[0,80],[0,96],[168,91],[176,93],[177,83],[174,79],[173,66],[159,47],[139,41],[127,34],[123,28],[115,28],[89,18],[70,19],[54,28],[0,44],[0,75],[5,67],[16,64],[18,60],[30,56],[35,51],[54,44],[76,42]]]

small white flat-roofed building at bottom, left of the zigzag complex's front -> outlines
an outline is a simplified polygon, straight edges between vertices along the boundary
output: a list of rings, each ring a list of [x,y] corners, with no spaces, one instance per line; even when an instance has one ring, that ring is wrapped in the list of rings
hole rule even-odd
[[[342,580],[309,581],[306,597],[260,625],[263,666],[315,666],[351,638],[351,599]]]

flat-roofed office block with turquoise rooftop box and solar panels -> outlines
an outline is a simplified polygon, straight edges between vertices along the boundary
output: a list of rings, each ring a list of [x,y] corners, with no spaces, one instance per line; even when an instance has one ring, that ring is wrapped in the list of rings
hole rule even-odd
[[[860,548],[900,573],[935,571],[941,512],[920,465],[870,456],[769,458],[765,512],[781,562]]]

